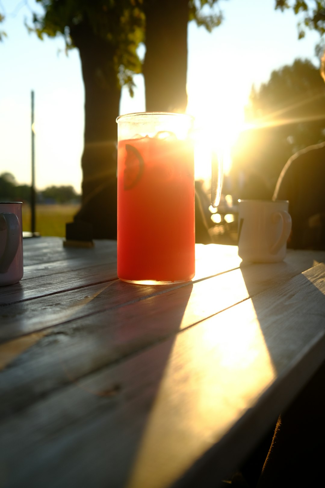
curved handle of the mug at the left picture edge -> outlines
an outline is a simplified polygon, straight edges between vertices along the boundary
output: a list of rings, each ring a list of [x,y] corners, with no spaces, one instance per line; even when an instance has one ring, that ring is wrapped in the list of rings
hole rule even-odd
[[[17,254],[20,238],[19,220],[16,214],[0,213],[0,232],[7,230],[4,252],[0,258],[0,273],[6,273]]]

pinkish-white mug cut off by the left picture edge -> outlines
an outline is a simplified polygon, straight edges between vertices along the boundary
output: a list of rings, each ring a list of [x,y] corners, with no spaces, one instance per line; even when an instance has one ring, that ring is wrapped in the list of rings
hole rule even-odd
[[[0,202],[0,285],[23,275],[21,202]]]

